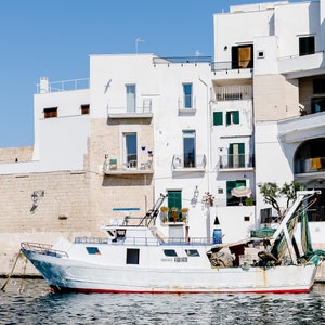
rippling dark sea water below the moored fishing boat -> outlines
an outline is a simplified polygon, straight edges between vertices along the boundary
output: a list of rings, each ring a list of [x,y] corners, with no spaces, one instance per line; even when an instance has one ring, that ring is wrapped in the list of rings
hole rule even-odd
[[[12,278],[0,324],[325,324],[325,285],[297,295],[53,294],[42,280]]]

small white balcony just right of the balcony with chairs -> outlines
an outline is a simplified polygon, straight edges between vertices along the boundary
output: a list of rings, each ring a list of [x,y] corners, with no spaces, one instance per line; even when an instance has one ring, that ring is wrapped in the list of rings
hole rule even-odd
[[[206,170],[206,155],[173,155],[172,168],[173,171],[199,171]]]

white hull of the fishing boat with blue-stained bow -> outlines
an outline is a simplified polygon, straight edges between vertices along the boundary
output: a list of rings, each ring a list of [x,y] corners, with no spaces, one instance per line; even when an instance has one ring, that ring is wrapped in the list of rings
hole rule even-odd
[[[110,266],[22,250],[55,291],[202,294],[309,292],[316,266],[145,269]]]

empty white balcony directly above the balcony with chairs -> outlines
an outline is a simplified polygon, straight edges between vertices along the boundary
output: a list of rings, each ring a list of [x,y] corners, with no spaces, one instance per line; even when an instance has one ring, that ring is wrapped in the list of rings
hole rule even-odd
[[[142,105],[136,107],[108,107],[107,117],[113,118],[152,118],[153,103],[152,99],[143,99]]]

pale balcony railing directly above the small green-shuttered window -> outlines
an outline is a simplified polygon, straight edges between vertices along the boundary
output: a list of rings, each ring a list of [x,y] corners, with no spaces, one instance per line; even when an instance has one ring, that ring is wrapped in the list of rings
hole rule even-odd
[[[211,89],[211,101],[242,101],[252,99],[251,84],[213,87]]]

